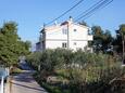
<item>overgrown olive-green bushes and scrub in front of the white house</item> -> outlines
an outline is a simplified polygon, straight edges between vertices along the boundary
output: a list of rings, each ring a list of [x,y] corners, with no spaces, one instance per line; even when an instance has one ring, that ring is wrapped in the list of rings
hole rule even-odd
[[[46,50],[27,61],[38,69],[37,81],[51,93],[114,93],[111,81],[124,72],[116,56],[82,50]]]

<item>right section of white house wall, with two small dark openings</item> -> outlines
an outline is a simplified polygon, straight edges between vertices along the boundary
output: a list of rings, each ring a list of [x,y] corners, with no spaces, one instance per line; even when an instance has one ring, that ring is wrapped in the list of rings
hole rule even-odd
[[[74,31],[76,29],[76,31]],[[85,49],[88,44],[88,28],[71,24],[70,25],[70,48],[73,50]],[[74,44],[76,43],[76,44]]]

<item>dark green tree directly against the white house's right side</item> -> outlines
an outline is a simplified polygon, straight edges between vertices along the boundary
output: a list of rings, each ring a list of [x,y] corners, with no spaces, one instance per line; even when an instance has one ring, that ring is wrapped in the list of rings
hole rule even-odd
[[[113,38],[109,30],[103,31],[100,26],[93,26],[91,30],[93,35],[92,45],[96,52],[105,52],[111,48]]]

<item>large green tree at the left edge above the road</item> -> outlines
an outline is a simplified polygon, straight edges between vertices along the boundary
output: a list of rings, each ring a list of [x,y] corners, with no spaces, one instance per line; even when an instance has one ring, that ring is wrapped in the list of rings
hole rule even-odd
[[[0,63],[7,66],[16,64],[18,56],[28,52],[24,44],[17,35],[17,24],[4,23],[0,28]]]

